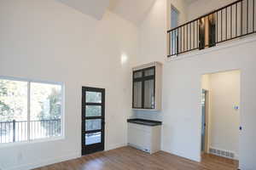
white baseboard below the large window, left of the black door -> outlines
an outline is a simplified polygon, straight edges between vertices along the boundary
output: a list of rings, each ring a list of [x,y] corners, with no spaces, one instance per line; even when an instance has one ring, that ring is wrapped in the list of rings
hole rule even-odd
[[[52,158],[49,158],[49,159],[43,160],[43,161],[38,161],[38,162],[34,162],[34,163],[29,163],[29,164],[23,164],[23,165],[19,165],[19,166],[15,166],[15,167],[9,167],[9,168],[6,168],[5,170],[29,170],[29,169],[33,169],[33,168],[37,168],[37,167],[48,166],[48,165],[58,163],[61,161],[68,161],[68,160],[76,159],[80,156],[81,156],[81,153],[79,151],[77,151],[77,152],[67,154],[66,156],[52,157]]]

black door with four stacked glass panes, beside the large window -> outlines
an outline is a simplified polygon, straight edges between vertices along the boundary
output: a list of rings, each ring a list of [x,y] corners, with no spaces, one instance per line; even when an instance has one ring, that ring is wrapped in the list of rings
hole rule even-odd
[[[105,89],[82,88],[82,155],[104,150]]]

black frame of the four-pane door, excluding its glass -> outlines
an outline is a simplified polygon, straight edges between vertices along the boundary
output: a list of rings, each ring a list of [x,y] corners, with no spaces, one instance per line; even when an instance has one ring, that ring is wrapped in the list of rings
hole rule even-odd
[[[86,103],[86,92],[98,92],[102,93],[102,103]],[[101,105],[102,106],[102,116],[85,116],[86,105]],[[82,156],[91,154],[97,151],[102,151],[105,149],[105,88],[91,88],[82,87],[82,105],[81,105],[81,154]],[[88,119],[102,119],[102,129],[100,130],[85,130],[85,120]],[[101,143],[85,145],[85,134],[86,133],[96,133],[101,132]]]

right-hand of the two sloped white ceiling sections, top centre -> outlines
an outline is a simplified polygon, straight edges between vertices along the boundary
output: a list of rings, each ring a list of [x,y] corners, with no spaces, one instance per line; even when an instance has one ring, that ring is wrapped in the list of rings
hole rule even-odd
[[[110,0],[109,9],[137,25],[143,20],[154,2],[155,0]]]

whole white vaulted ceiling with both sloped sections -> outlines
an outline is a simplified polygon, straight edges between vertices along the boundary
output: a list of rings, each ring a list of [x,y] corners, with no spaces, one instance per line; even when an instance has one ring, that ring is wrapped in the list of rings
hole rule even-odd
[[[56,0],[88,14],[97,20],[102,20],[102,16],[109,9],[115,14],[119,14],[125,20],[130,20],[138,25],[148,14],[155,0]],[[184,0],[186,3],[194,3],[197,0]]]

